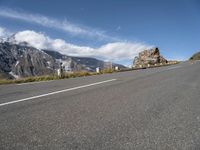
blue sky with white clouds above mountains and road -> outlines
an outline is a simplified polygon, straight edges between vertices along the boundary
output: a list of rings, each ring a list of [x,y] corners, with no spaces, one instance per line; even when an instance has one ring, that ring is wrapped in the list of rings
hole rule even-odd
[[[141,49],[151,46],[159,47],[168,59],[185,60],[200,48],[200,2],[0,0],[0,27],[9,33],[34,31],[54,43],[62,39],[73,46],[71,51],[60,50],[63,53],[92,53],[127,65]]]

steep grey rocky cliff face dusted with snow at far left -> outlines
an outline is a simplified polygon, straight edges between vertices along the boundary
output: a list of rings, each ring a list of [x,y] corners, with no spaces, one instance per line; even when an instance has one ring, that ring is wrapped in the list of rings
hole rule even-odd
[[[0,72],[10,77],[51,74],[55,60],[48,54],[25,45],[0,43]]]

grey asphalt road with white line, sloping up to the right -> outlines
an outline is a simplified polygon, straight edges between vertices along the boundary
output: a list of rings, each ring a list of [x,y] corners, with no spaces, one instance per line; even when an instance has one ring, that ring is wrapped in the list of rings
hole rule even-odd
[[[200,149],[200,62],[0,86],[0,150]]]

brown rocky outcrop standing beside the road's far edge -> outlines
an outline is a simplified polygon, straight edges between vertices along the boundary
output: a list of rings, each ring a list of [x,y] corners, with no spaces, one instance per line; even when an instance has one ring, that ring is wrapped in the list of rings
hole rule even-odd
[[[139,56],[136,56],[133,61],[134,67],[148,67],[155,64],[165,64],[167,60],[160,55],[158,48],[153,48],[150,50],[144,50],[139,53]]]

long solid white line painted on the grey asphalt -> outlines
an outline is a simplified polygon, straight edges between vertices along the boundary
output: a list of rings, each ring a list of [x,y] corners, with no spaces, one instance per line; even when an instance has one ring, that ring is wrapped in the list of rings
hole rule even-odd
[[[81,89],[81,88],[85,88],[85,87],[99,85],[99,84],[103,84],[103,83],[107,83],[107,82],[112,82],[115,80],[117,80],[117,79],[110,79],[110,80],[105,80],[105,81],[101,81],[101,82],[95,82],[95,83],[77,86],[77,87],[73,87],[73,88],[69,88],[69,89],[64,89],[64,90],[50,92],[50,93],[46,93],[46,94],[42,94],[42,95],[37,95],[37,96],[32,96],[32,97],[28,97],[28,98],[19,99],[19,100],[14,100],[11,102],[1,103],[0,107],[5,106],[5,105],[14,104],[14,103],[23,102],[23,101],[28,101],[28,100],[32,100],[32,99],[36,99],[36,98],[41,98],[41,97],[45,97],[45,96],[49,96],[49,95],[54,95],[54,94],[58,94],[58,93],[63,93],[63,92],[73,91],[73,90],[77,90],[77,89]]]

